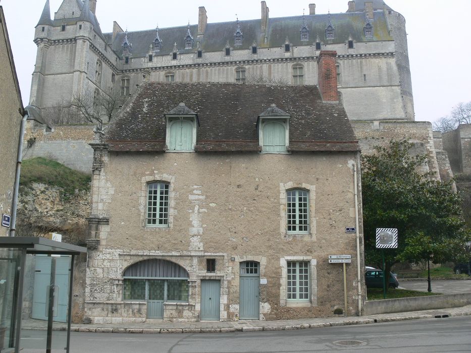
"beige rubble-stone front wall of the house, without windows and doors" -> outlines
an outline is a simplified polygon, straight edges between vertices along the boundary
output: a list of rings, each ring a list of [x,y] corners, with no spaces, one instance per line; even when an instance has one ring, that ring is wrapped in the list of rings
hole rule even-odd
[[[347,311],[356,315],[356,239],[345,233],[346,226],[355,225],[353,163],[358,163],[353,152],[103,151],[93,175],[92,217],[109,219],[109,224],[97,234],[98,248],[88,252],[86,317],[95,323],[145,319],[145,303],[123,302],[122,276],[129,265],[152,258],[175,262],[189,273],[188,305],[167,304],[165,320],[199,319],[201,279],[221,281],[220,318],[238,320],[243,261],[258,262],[260,278],[267,280],[260,284],[260,319],[331,316],[343,308],[343,284],[342,266],[329,264],[329,254],[352,255]],[[170,183],[169,227],[144,225],[151,181]],[[309,192],[307,234],[286,233],[290,188]],[[359,231],[363,266],[361,219]],[[214,273],[206,272],[207,258],[216,259]],[[309,301],[286,300],[287,261],[310,263]],[[360,296],[363,300],[364,293]]]

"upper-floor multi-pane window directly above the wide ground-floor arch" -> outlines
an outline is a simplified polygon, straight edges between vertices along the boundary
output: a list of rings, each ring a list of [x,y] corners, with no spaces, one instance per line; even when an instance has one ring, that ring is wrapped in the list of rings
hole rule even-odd
[[[169,184],[155,182],[147,184],[147,226],[169,226]]]

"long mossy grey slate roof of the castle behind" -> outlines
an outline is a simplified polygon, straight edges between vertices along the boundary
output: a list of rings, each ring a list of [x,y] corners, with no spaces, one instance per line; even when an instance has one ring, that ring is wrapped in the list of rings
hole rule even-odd
[[[171,28],[159,28],[159,37],[163,41],[163,46],[156,55],[168,55],[173,52],[174,43],[177,43],[179,53],[191,53],[196,51],[196,42],[200,41],[203,51],[224,50],[229,41],[233,49],[250,49],[255,42],[259,47],[281,47],[285,44],[286,37],[292,45],[311,45],[316,42],[319,36],[321,42],[325,44],[345,43],[349,37],[357,42],[393,40],[388,31],[388,24],[383,11],[375,11],[373,24],[373,37],[367,38],[363,32],[363,26],[367,22],[365,13],[349,12],[340,14],[319,14],[270,18],[268,22],[267,38],[265,43],[264,35],[261,34],[261,20],[240,21],[239,26],[244,36],[242,45],[234,45],[234,31],[237,29],[237,21],[208,23],[204,36],[197,38],[198,25],[190,25],[190,31],[194,36],[195,45],[192,48],[185,49],[185,37],[188,26],[179,26]],[[329,19],[335,27],[334,39],[326,39],[326,27]],[[300,29],[303,21],[309,29],[308,40],[301,41]],[[120,32],[112,42],[112,33],[105,33],[108,43],[111,43],[113,50],[118,55],[122,55],[122,44],[125,33]],[[128,31],[127,36],[133,44],[131,54],[133,57],[143,57],[149,52],[149,45],[155,39],[155,29],[143,31]]]

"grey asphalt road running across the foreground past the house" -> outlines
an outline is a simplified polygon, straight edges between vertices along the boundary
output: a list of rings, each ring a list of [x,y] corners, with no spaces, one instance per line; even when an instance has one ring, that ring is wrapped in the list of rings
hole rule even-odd
[[[55,332],[58,338],[65,332]],[[23,353],[39,352],[40,331],[26,331]],[[27,336],[27,337],[26,337]],[[42,337],[43,338],[43,337]],[[355,345],[354,345],[355,344]],[[312,351],[469,352],[471,316],[293,331],[215,334],[71,334],[71,353],[292,353]],[[44,350],[42,350],[44,351]],[[53,352],[60,350],[53,350]],[[64,350],[62,350],[64,351]]]

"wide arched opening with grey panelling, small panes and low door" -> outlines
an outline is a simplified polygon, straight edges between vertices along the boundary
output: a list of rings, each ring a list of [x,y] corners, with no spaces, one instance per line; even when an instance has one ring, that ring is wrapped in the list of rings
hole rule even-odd
[[[123,300],[146,301],[148,319],[163,319],[165,302],[188,302],[188,272],[174,262],[136,262],[124,271],[123,278]]]

